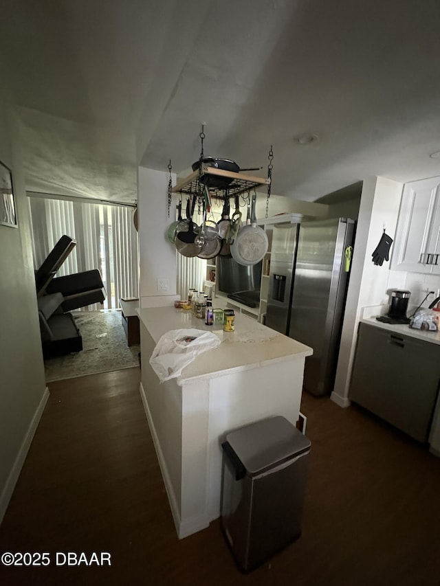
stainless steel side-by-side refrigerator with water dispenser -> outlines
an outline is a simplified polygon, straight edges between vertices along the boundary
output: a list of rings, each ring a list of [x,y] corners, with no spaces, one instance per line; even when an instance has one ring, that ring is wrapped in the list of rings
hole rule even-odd
[[[317,396],[333,390],[353,232],[346,218],[274,225],[265,324],[314,349],[304,389]]]

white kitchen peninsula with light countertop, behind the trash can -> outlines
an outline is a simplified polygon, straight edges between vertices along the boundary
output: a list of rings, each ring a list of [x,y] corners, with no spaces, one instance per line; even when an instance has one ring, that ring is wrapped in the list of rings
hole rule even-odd
[[[206,326],[188,311],[140,308],[140,392],[179,538],[220,515],[221,441],[226,433],[272,415],[298,420],[305,357],[313,350],[249,317],[235,332]],[[200,354],[179,379],[159,383],[149,358],[169,330],[197,328],[221,344]]]

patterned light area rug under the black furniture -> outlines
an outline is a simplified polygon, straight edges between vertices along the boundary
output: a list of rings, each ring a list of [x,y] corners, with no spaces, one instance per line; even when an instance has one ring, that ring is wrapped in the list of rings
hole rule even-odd
[[[45,360],[46,382],[139,366],[140,346],[126,345],[120,310],[73,312],[83,350]]]

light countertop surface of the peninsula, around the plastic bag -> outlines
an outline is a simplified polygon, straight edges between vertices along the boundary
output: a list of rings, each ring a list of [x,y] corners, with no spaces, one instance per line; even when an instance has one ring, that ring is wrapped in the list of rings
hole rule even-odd
[[[137,313],[155,343],[164,333],[181,328],[206,330],[219,337],[220,345],[196,357],[182,370],[180,380],[221,376],[225,371],[257,368],[267,363],[313,354],[309,346],[241,314],[235,316],[234,333],[227,333],[223,332],[223,326],[206,326],[203,319],[183,309],[139,308]]]

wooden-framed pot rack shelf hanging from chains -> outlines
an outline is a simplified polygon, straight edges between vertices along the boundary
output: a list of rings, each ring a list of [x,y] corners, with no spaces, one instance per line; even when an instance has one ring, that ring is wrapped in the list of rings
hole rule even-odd
[[[226,194],[228,197],[234,195],[240,195],[245,192],[249,192],[260,185],[269,185],[270,179],[264,179],[263,177],[252,177],[243,173],[234,173],[232,171],[223,171],[215,167],[210,167],[206,164],[201,164],[200,168],[192,172],[185,179],[181,179],[173,187],[173,193],[186,193],[188,195],[199,195],[201,193],[202,183],[200,177],[202,175],[214,175],[217,177],[229,177],[233,179],[232,183],[228,185],[228,188],[208,188],[212,197],[218,197],[224,199]]]

